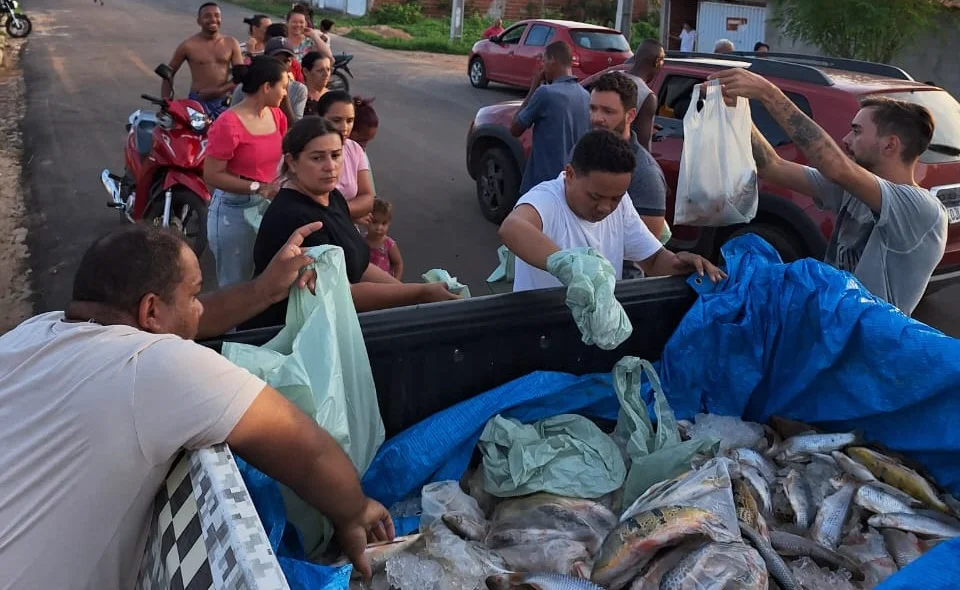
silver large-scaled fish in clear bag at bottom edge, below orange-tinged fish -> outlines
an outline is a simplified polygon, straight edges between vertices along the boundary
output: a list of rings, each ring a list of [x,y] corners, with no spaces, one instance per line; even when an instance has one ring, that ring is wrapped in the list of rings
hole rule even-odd
[[[702,588],[767,590],[763,558],[743,543],[709,543],[684,557],[660,581],[660,590]]]

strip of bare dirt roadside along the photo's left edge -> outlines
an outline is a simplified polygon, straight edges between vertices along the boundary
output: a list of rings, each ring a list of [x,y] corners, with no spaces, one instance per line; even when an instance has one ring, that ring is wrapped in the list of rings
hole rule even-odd
[[[0,39],[0,44],[4,40]],[[6,40],[0,61],[0,334],[32,313],[22,183],[23,41]]]

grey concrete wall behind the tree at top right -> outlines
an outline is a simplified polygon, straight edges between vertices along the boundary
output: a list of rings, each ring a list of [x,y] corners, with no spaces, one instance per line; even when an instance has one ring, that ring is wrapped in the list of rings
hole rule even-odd
[[[960,98],[960,10],[952,10],[940,27],[918,39],[901,55],[895,57],[893,65],[910,73],[915,79],[926,82],[931,80],[945,90]],[[805,53],[820,55],[820,50],[805,43],[785,37],[767,21],[767,44],[771,51]]]

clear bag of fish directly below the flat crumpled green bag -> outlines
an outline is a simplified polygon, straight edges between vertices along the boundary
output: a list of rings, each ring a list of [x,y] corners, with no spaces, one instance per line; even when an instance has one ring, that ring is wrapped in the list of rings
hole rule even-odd
[[[485,542],[500,549],[559,539],[582,544],[586,556],[592,557],[616,524],[616,515],[599,502],[533,494],[501,502],[494,510]]]

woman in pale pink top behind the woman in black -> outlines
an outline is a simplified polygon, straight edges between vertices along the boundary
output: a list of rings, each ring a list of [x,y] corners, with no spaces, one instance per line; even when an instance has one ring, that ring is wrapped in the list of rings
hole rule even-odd
[[[366,221],[373,211],[373,177],[370,162],[359,143],[350,139],[356,119],[353,97],[342,90],[331,90],[317,101],[317,114],[330,121],[343,137],[343,166],[337,190],[343,194],[354,221]]]

